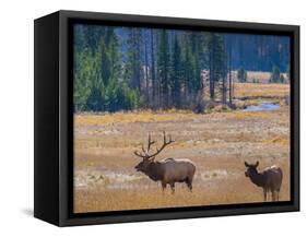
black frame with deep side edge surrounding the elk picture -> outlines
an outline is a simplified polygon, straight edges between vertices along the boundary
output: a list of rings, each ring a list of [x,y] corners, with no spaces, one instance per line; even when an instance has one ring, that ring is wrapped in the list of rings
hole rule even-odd
[[[291,201],[73,213],[74,23],[291,37]],[[299,26],[59,11],[35,20],[34,215],[59,226],[299,211]],[[48,204],[47,204],[48,203]]]

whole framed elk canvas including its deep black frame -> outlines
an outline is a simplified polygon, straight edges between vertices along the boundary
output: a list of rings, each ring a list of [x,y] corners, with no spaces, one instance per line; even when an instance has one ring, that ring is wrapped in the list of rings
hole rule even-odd
[[[59,226],[299,210],[299,26],[35,20],[34,215]]]

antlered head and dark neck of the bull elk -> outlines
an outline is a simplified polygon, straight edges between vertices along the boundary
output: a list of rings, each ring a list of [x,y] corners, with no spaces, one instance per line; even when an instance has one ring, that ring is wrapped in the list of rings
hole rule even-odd
[[[174,140],[172,140],[172,137],[168,135],[168,140],[166,139],[165,131],[163,131],[163,144],[160,149],[156,149],[154,153],[151,153],[151,146],[155,143],[155,141],[152,141],[151,134],[149,133],[149,141],[146,147],[144,147],[144,144],[142,144],[142,151],[138,152],[134,151],[134,155],[142,158],[142,162],[140,162],[134,168],[137,171],[146,173],[149,170],[149,166],[151,163],[154,162],[155,156],[160,154],[167,145],[173,143]]]

